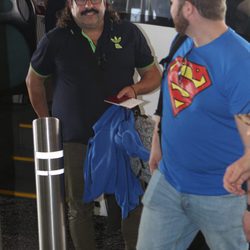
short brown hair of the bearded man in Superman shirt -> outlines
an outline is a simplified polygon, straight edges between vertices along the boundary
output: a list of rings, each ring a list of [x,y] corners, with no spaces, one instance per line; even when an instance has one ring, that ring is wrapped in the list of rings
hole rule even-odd
[[[180,3],[192,3],[200,15],[211,20],[224,20],[226,15],[226,0],[180,0]]]

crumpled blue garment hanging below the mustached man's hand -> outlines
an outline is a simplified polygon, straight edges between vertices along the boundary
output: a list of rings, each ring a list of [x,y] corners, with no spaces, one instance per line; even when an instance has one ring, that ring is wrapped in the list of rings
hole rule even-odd
[[[143,194],[139,180],[131,170],[130,157],[148,161],[149,152],[134,128],[131,110],[111,106],[93,126],[84,166],[84,201],[103,193],[115,194],[122,217],[139,204]]]

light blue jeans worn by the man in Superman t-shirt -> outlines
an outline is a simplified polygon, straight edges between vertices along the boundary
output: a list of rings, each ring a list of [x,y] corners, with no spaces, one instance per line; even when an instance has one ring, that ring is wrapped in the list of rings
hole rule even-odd
[[[185,250],[199,230],[211,250],[247,250],[246,197],[176,191],[156,170],[143,197],[138,250]]]

